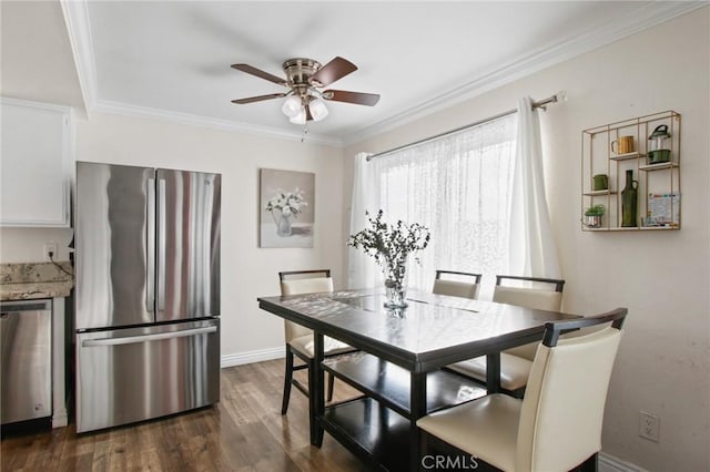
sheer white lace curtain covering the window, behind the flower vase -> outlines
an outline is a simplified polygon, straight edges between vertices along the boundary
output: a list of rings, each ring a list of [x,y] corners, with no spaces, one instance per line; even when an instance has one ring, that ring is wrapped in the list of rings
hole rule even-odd
[[[369,162],[357,156],[351,234],[364,227],[364,208],[427,226],[432,242],[420,266],[409,260],[409,287],[430,290],[436,269],[506,273],[516,121],[506,116]],[[382,284],[372,258],[349,256],[351,287]]]

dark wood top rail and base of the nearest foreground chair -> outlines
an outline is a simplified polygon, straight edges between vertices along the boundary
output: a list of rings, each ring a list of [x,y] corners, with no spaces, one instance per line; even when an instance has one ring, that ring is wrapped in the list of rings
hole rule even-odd
[[[548,281],[550,279],[542,279],[538,281]],[[564,284],[564,283],[562,283]],[[560,286],[561,291],[561,286]],[[628,309],[626,308],[617,308],[612,311],[608,311],[606,314],[601,314],[594,317],[588,318],[579,318],[571,319],[565,321],[555,321],[555,322],[546,322],[545,324],[545,335],[542,338],[542,343],[547,347],[557,346],[557,341],[559,340],[559,336],[565,332],[576,331],[581,328],[587,328],[589,326],[604,325],[607,322],[611,322],[611,327],[616,329],[621,329],[623,326],[623,321],[626,320],[626,316],[628,314]],[[474,400],[476,401],[476,400]],[[426,431],[422,430],[420,438],[423,454],[432,455],[442,454],[452,458],[449,463],[465,463],[465,461],[470,461],[471,456],[468,452],[462,451],[455,445],[449,444],[446,441],[442,441],[435,435],[428,434]],[[585,460],[581,464],[572,469],[575,472],[597,472],[598,471],[598,459],[599,454],[594,453],[587,460]],[[420,459],[424,460],[424,456]],[[481,461],[478,458],[474,458],[476,461],[475,464],[469,464],[469,469],[476,469],[477,471],[498,471],[497,468]]]

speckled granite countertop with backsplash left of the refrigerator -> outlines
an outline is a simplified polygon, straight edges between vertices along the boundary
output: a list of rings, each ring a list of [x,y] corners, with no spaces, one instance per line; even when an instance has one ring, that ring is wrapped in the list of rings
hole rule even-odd
[[[58,263],[69,274],[69,261]],[[0,264],[0,301],[68,297],[74,277],[52,263]]]

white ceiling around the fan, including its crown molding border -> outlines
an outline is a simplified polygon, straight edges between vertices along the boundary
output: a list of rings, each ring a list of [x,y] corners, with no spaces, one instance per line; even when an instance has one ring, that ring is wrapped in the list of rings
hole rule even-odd
[[[329,102],[329,115],[308,125],[311,138],[343,144],[703,4],[65,1],[61,7],[89,111],[300,136],[302,126],[281,113],[283,99],[230,102],[283,91],[230,65],[248,63],[283,75],[286,59],[326,63],[341,55],[359,70],[331,88],[382,95],[374,107]],[[32,7],[39,9],[36,2],[26,8]]]

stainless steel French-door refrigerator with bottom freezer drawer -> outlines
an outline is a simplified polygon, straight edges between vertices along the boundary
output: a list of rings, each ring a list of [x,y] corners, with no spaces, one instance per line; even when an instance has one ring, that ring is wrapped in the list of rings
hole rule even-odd
[[[77,163],[77,432],[220,399],[221,175]]]

